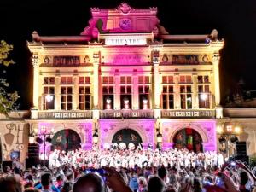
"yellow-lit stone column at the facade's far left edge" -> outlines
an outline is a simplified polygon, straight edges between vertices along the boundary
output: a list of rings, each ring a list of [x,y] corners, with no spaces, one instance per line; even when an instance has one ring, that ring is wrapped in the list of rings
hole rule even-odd
[[[39,59],[38,53],[32,53],[33,65],[33,105],[31,110],[31,118],[38,119],[38,101],[39,101]]]

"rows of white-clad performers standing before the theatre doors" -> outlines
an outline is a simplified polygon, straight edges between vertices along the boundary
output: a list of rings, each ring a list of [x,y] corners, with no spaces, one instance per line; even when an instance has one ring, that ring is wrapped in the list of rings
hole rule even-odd
[[[182,150],[168,149],[161,151],[159,149],[148,150],[119,150],[119,149],[91,149],[76,151],[60,151],[55,149],[49,155],[49,167],[60,167],[69,164],[74,167],[94,167],[111,166],[115,168],[125,167],[133,168],[135,165],[143,167],[148,166],[222,166],[224,164],[224,156],[215,151],[207,151],[206,153],[194,153],[186,148]]]

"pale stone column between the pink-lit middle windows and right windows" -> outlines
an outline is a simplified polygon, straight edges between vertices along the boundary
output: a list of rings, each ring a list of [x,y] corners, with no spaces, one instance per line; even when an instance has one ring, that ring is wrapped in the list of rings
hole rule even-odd
[[[159,75],[160,54],[158,50],[153,51],[154,64],[154,118],[160,118],[160,75]]]

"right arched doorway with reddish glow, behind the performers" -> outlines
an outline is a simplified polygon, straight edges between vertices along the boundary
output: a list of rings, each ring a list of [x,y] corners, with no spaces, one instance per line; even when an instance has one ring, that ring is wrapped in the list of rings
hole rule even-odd
[[[188,148],[190,151],[202,152],[201,135],[194,129],[184,128],[177,131],[173,142],[177,149]]]

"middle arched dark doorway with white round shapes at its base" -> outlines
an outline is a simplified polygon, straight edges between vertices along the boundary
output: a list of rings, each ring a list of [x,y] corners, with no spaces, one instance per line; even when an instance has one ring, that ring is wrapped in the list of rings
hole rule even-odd
[[[137,131],[131,129],[122,129],[114,134],[112,143],[125,143],[127,147],[129,143],[133,143],[137,148],[140,143],[143,143],[143,140]]]

